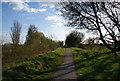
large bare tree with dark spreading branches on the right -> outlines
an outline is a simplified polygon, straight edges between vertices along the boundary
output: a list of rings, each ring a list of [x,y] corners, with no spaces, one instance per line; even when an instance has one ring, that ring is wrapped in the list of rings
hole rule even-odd
[[[120,50],[119,2],[61,2],[59,10],[67,25],[96,32],[116,56]]]

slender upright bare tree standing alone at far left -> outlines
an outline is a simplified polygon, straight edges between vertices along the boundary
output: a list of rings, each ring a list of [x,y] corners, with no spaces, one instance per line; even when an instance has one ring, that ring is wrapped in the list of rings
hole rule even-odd
[[[18,21],[13,22],[13,27],[11,27],[11,39],[14,45],[18,45],[20,42],[21,24]]]

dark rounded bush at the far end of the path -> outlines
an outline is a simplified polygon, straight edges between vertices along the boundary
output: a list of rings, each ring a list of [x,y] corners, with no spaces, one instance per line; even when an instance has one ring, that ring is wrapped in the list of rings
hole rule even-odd
[[[65,44],[69,47],[74,47],[77,45],[80,45],[82,40],[84,38],[84,34],[77,32],[77,31],[72,31],[65,40]]]

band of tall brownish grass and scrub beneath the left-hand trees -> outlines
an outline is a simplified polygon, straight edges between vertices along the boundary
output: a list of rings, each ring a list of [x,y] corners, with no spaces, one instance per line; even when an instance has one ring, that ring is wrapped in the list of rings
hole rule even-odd
[[[9,64],[11,62],[15,62],[18,60],[22,60],[25,58],[31,58],[34,56],[38,56],[39,54],[52,51],[58,47],[58,45],[52,45],[48,46],[42,46],[42,45],[37,45],[37,46],[25,46],[25,45],[19,45],[19,46],[14,46],[14,45],[3,45],[2,46],[2,62],[3,65]]]

